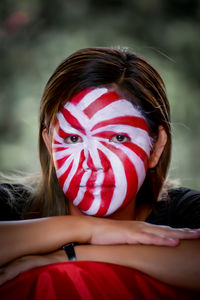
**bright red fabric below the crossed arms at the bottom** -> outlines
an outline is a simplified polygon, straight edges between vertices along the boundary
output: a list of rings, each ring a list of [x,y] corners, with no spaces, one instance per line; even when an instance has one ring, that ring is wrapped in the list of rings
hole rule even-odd
[[[0,287],[1,300],[191,300],[199,296],[132,268],[87,261],[35,268]]]

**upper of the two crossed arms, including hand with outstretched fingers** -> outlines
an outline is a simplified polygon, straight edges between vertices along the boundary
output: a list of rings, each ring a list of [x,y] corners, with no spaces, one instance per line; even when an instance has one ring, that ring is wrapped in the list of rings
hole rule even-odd
[[[198,230],[88,216],[0,222],[0,265],[25,255],[52,252],[69,242],[175,246],[180,239],[196,239],[199,236]]]

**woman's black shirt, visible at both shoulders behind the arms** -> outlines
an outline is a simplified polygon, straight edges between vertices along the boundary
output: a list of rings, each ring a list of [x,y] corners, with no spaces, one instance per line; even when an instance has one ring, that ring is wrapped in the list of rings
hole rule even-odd
[[[22,185],[0,185],[0,220],[20,220],[30,193]],[[146,222],[174,228],[200,228],[200,192],[188,188],[168,191],[158,201]]]

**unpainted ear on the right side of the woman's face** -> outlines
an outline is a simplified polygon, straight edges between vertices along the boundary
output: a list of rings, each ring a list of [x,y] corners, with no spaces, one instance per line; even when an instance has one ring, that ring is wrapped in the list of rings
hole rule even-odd
[[[153,145],[153,152],[149,158],[149,168],[154,168],[159,162],[161,154],[165,149],[167,143],[167,134],[163,126],[158,127],[158,139]]]

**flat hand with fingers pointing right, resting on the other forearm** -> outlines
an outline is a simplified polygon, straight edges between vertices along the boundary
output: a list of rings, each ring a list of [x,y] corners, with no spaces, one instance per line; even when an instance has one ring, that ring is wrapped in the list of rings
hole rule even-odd
[[[176,246],[181,239],[200,238],[200,229],[174,229],[142,221],[93,218],[91,244],[153,244]]]

